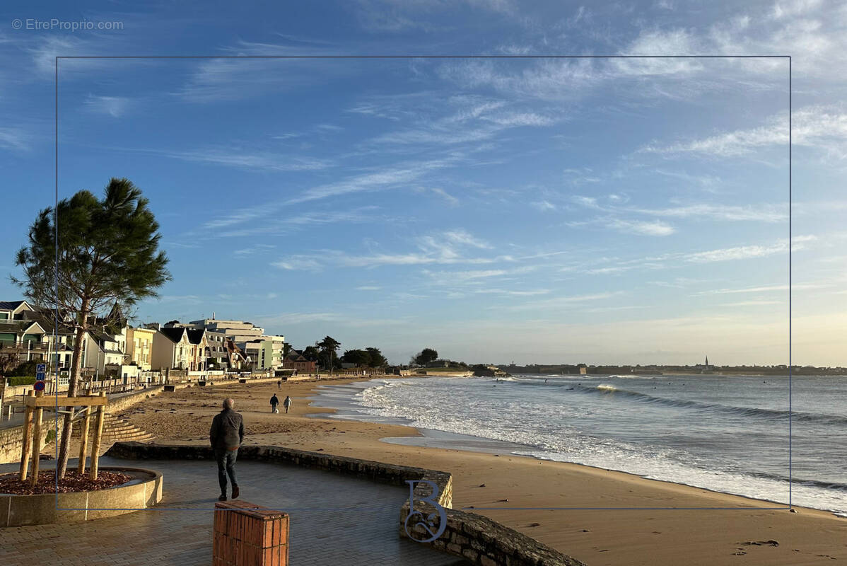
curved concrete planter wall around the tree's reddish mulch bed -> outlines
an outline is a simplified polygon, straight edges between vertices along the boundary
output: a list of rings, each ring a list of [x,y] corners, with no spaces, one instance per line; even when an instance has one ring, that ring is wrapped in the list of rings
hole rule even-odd
[[[0,493],[0,527],[72,523],[141,511],[162,501],[162,474],[143,468],[101,468],[133,476],[130,483],[97,491],[8,495]]]

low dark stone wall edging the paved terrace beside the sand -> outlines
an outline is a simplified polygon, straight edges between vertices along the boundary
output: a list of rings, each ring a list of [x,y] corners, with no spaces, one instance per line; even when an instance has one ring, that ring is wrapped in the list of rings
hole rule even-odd
[[[140,442],[117,442],[106,454],[114,458],[130,459],[213,458],[210,447],[151,445]],[[406,480],[429,480],[439,487],[438,502],[446,510],[447,525],[445,532],[438,539],[426,544],[481,566],[585,566],[579,560],[547,547],[517,530],[509,529],[493,519],[452,509],[452,475],[447,472],[272,446],[241,447],[238,458],[324,469],[396,486],[406,486]],[[421,509],[425,514],[435,510],[434,507],[418,502],[418,498],[429,495],[429,487],[425,484],[415,487],[416,510]],[[401,536],[406,536],[403,523],[408,514],[409,502],[406,502],[400,509]],[[418,532],[424,530],[421,528]]]

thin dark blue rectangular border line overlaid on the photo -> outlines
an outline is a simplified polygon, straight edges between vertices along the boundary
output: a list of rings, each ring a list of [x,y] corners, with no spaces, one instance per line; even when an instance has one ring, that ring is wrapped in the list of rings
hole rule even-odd
[[[789,504],[788,507],[694,507],[694,508],[628,508],[628,507],[595,507],[595,508],[556,508],[556,507],[539,507],[539,508],[473,508],[474,510],[532,510],[532,511],[560,511],[560,510],[608,510],[608,511],[658,511],[658,510],[711,510],[724,511],[730,509],[742,510],[790,510],[793,508],[793,462],[792,462],[792,374],[791,374],[791,236],[792,236],[792,132],[791,132],[791,115],[792,115],[792,66],[791,55],[57,55],[54,59],[54,87],[55,87],[55,125],[54,125],[54,143],[55,143],[55,206],[53,208],[53,225],[55,227],[56,240],[56,296],[58,297],[58,60],[59,59],[609,59],[609,58],[787,58],[789,61]],[[58,338],[58,301],[54,314],[53,324],[53,340]],[[56,430],[58,430],[58,364],[56,367]],[[56,458],[58,460],[58,442],[56,443]],[[54,474],[55,476],[55,474]],[[80,508],[59,508],[58,507],[58,477],[56,480],[56,508],[62,511],[81,510]],[[720,492],[722,493],[722,491]],[[734,494],[728,494],[734,495]],[[745,496],[738,496],[745,497]],[[123,508],[114,508],[115,510],[126,510]],[[137,508],[132,508],[137,510]],[[157,510],[185,510],[196,511],[201,509],[195,508],[156,508],[148,509]],[[469,510],[470,508],[462,508]],[[207,510],[207,509],[202,509]],[[283,509],[274,509],[283,511]]]

